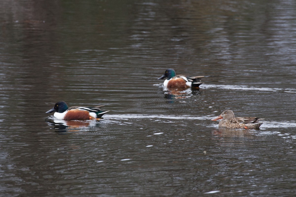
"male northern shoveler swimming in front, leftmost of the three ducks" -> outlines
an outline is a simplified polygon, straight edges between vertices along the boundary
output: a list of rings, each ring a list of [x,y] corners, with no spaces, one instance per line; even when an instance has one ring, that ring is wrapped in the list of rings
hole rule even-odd
[[[68,108],[68,105],[65,101],[57,102],[51,110],[48,110],[45,113],[54,113],[54,117],[60,120],[88,120],[91,118],[101,118],[102,115],[108,111],[102,111],[99,107],[82,107],[74,106]],[[109,110],[110,111],[110,110]]]

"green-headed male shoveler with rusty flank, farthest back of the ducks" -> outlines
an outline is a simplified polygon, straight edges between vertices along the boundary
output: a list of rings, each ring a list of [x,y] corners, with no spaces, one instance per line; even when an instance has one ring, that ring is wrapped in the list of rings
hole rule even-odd
[[[168,88],[179,88],[179,87],[199,87],[201,77],[204,76],[184,76],[184,75],[177,75],[174,69],[167,69],[165,74],[158,79],[165,79],[163,85]]]

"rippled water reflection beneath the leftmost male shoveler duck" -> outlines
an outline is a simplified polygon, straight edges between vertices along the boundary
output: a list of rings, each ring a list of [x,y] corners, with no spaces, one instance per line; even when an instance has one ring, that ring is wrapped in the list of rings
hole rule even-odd
[[[58,120],[53,116],[49,116],[45,120],[49,126],[54,126],[54,130],[56,132],[67,132],[67,131],[74,131],[79,132],[81,130],[85,131],[89,128],[100,127],[100,123],[98,119],[86,120],[86,121],[65,121],[65,120]]]

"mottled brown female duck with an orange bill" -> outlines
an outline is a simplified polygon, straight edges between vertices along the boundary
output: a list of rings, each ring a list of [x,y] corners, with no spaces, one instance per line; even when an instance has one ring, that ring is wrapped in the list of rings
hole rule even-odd
[[[219,127],[227,128],[259,128],[263,122],[263,118],[250,118],[250,117],[237,117],[234,118],[234,113],[231,110],[225,110],[217,118],[213,118],[211,121],[223,119],[219,122]]]

